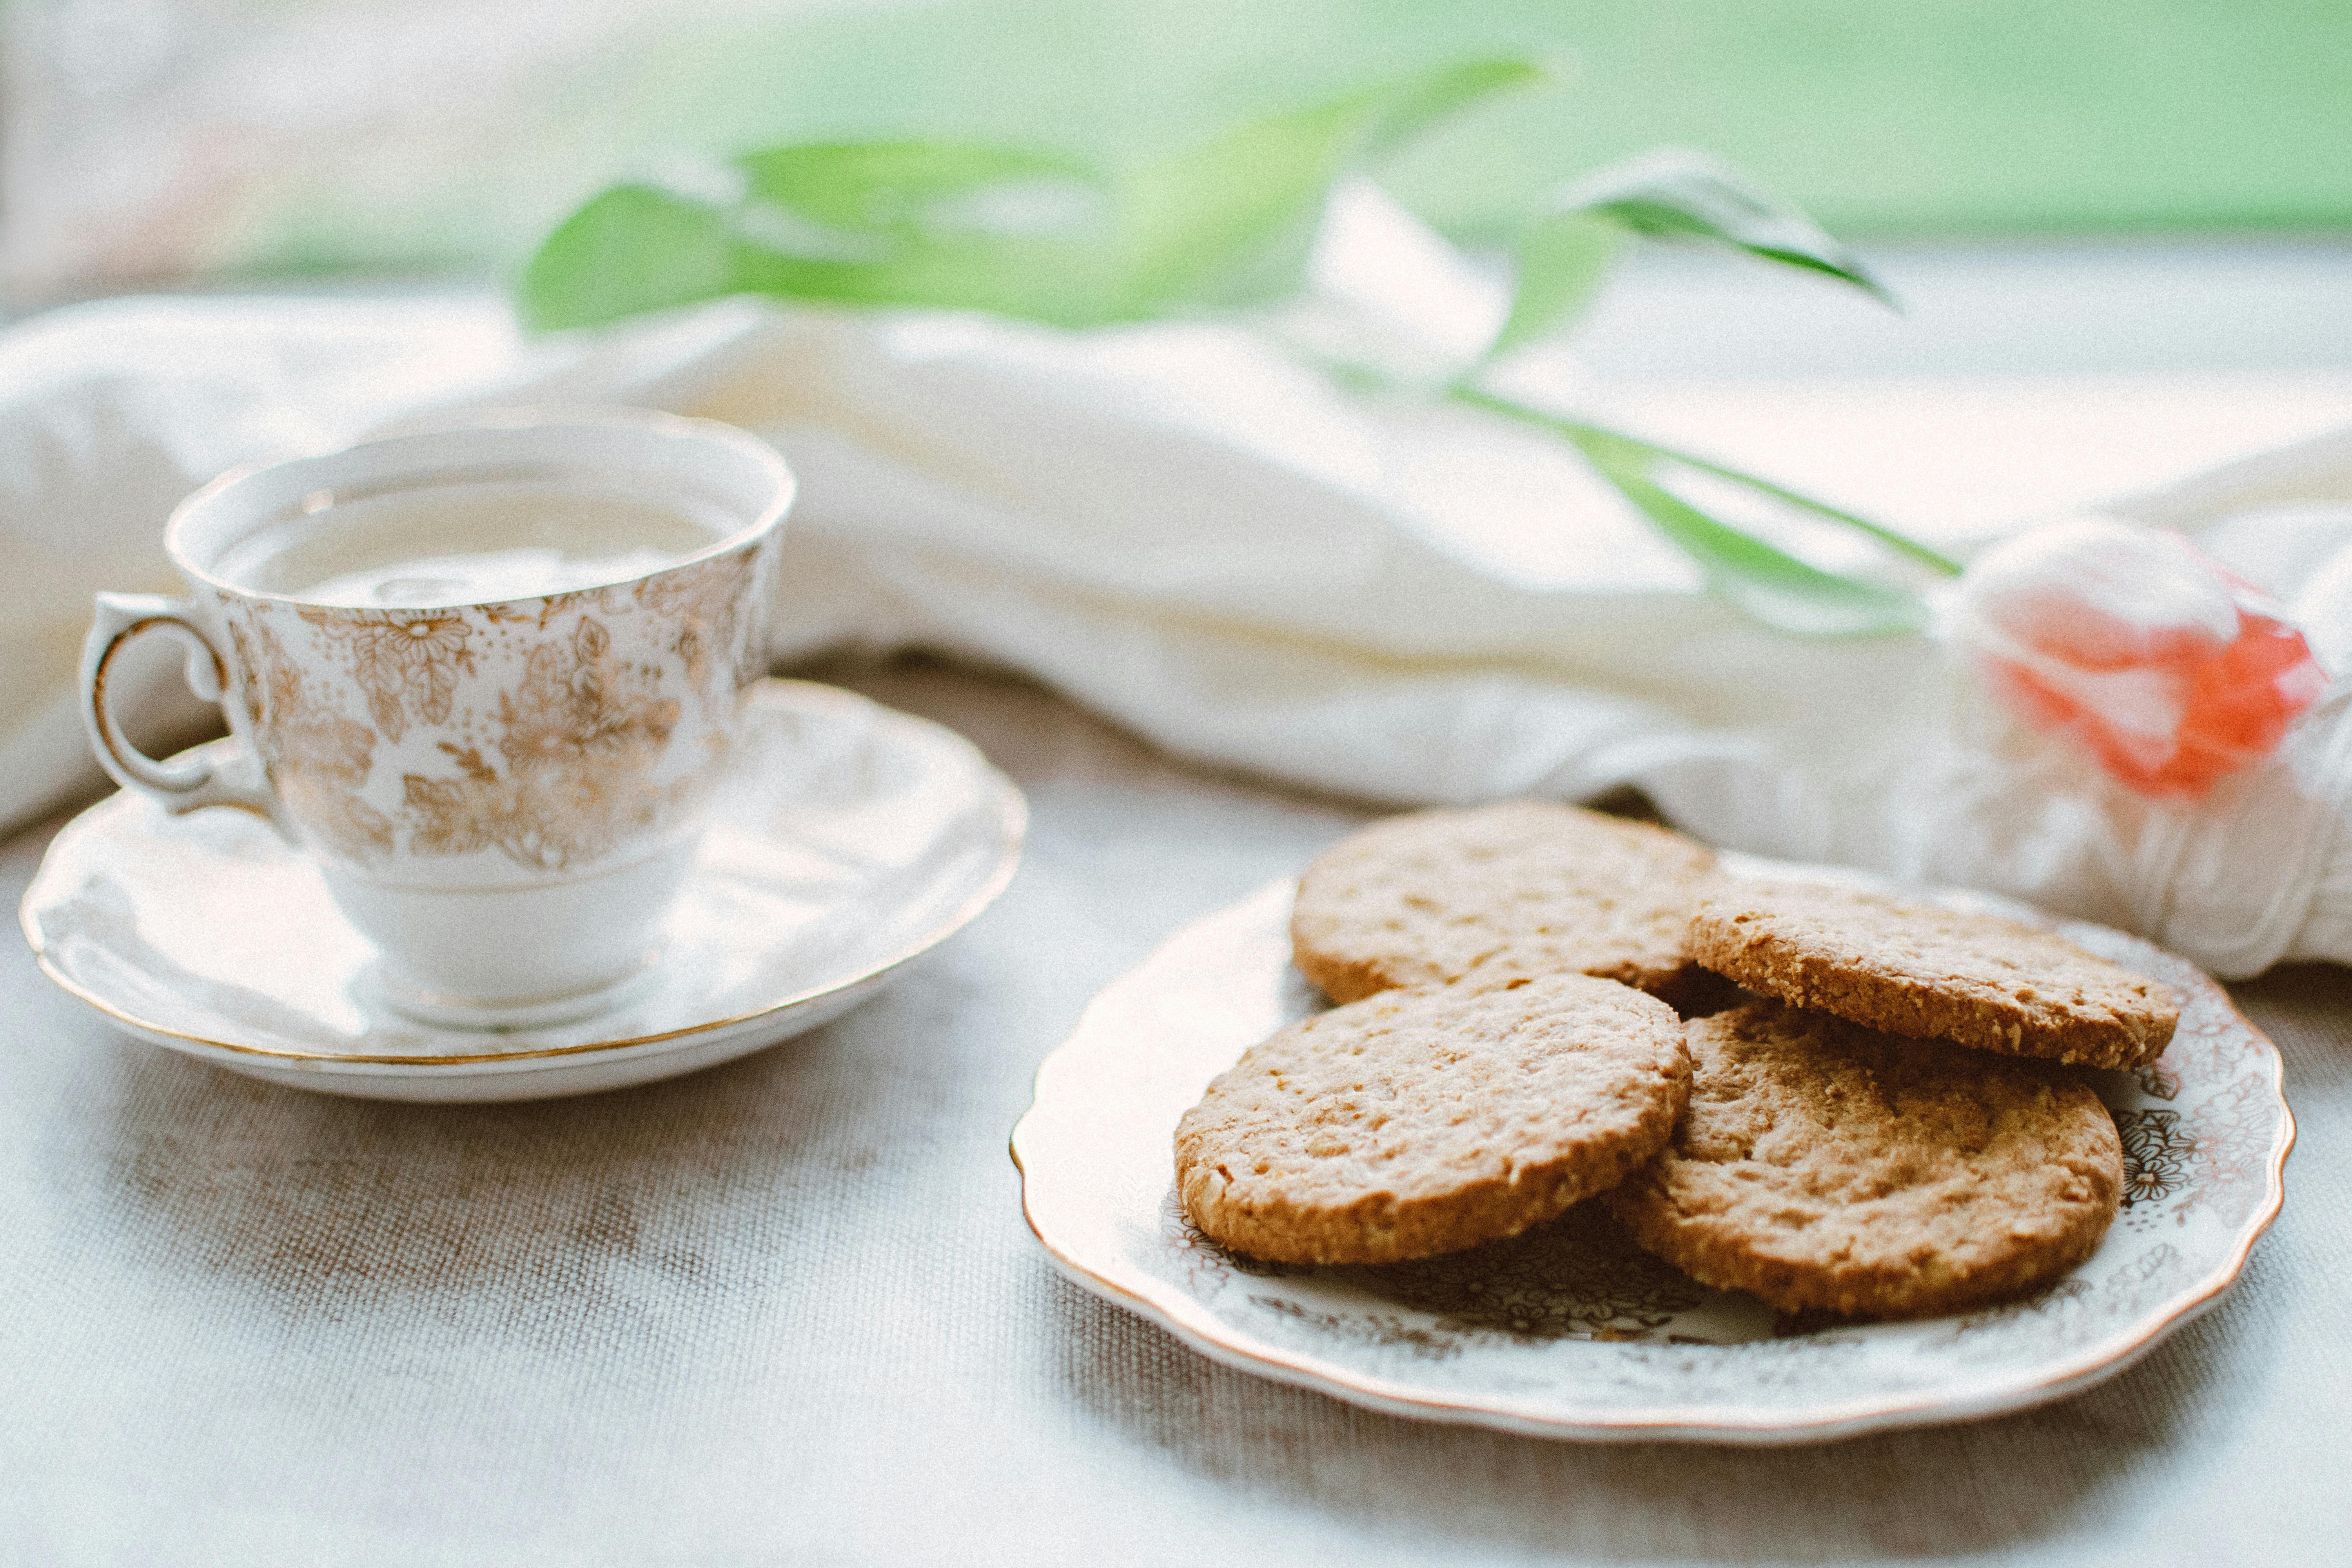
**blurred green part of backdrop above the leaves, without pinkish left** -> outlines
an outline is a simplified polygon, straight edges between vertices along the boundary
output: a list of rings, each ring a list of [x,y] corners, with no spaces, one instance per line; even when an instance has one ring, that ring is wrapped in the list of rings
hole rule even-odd
[[[1472,242],[1658,143],[1722,153],[1858,240],[2352,228],[2352,0],[906,0],[670,12],[517,82],[532,110],[470,167],[308,190],[254,249],[515,266],[616,179],[793,141],[1120,169],[1470,54],[1559,78],[1392,169]]]

